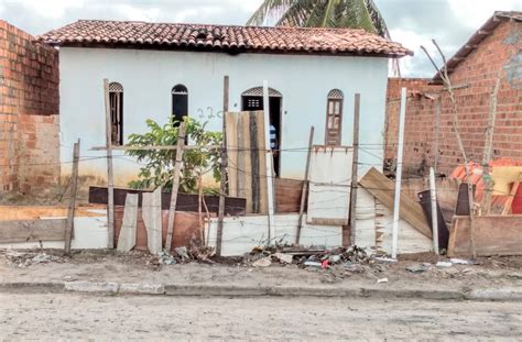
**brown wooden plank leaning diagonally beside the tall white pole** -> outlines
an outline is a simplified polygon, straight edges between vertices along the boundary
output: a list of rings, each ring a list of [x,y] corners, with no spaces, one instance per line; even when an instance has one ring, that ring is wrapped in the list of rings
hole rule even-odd
[[[371,195],[379,199],[388,208],[393,208],[395,185],[376,168],[371,168],[359,180],[359,185],[365,187]],[[421,205],[411,199],[406,194],[401,196],[400,217],[413,225],[425,236],[432,239],[432,230],[427,224],[426,217]]]

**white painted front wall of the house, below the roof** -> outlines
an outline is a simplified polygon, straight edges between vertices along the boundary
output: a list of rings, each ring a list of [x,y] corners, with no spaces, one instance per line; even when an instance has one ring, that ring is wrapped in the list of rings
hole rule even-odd
[[[314,55],[263,55],[192,53],[145,49],[62,47],[61,53],[61,158],[72,155],[70,146],[81,139],[84,156],[100,156],[80,167],[80,174],[105,177],[104,152],[88,151],[105,145],[102,79],[120,82],[123,96],[123,133],[145,131],[145,119],[166,123],[171,113],[171,89],[188,88],[189,115],[209,120],[209,130],[221,130],[222,78],[230,76],[230,110],[240,111],[241,93],[268,80],[283,95],[282,177],[304,175],[308,132],[315,125],[315,143],[325,142],[326,97],[339,88],[345,93],[342,144],[352,139],[354,95],[360,92],[361,144],[382,146],[388,62],[377,57]],[[203,118],[202,118],[203,114]],[[382,147],[361,152],[361,168],[382,167]],[[139,165],[130,157],[115,158],[118,185],[137,175]],[[63,173],[68,174],[66,167]],[[361,174],[363,172],[361,170]]]

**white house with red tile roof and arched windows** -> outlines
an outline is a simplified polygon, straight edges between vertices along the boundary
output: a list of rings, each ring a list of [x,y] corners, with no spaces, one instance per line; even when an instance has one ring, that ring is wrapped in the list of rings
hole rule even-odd
[[[91,159],[80,173],[102,178],[105,152],[89,148],[105,145],[104,78],[111,81],[115,144],[143,132],[145,119],[166,123],[173,114],[221,130],[224,76],[230,78],[230,111],[261,109],[268,80],[279,175],[290,178],[303,177],[311,125],[317,145],[351,144],[354,96],[360,93],[359,162],[362,168],[381,168],[388,59],[412,54],[347,29],[83,20],[39,38],[59,47],[61,158],[70,161],[73,143],[81,139],[81,156]],[[117,185],[134,178],[139,166],[117,155]]]

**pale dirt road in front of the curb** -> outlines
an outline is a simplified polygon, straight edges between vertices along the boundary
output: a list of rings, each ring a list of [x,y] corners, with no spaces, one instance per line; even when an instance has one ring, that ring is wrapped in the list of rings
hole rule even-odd
[[[522,305],[0,295],[0,340],[520,340]]]

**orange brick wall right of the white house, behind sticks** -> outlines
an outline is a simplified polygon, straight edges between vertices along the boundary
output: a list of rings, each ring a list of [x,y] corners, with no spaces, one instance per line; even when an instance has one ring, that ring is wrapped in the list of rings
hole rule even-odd
[[[460,133],[468,157],[482,161],[485,133],[490,98],[502,70],[498,93],[498,112],[493,136],[493,157],[522,159],[522,23],[503,22],[486,37],[450,74],[452,82],[467,88],[455,90]],[[441,101],[439,167],[450,173],[463,162],[453,131],[452,102],[439,86],[428,86],[426,79],[390,79],[385,157],[396,158],[400,87],[409,89],[406,107],[404,169],[425,174],[433,165],[436,144],[435,123],[437,101]]]

